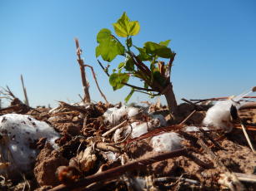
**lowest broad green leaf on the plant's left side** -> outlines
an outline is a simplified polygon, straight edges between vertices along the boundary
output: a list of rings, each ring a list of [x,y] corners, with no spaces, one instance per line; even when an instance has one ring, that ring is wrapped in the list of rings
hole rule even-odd
[[[113,73],[109,76],[109,83],[113,86],[113,90],[116,91],[122,88],[123,83],[127,83],[129,80],[129,75],[124,73]]]

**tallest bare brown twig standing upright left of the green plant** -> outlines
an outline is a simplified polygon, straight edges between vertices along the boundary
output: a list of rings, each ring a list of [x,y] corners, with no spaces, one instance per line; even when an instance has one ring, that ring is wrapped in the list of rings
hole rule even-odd
[[[89,94],[89,90],[88,90],[88,82],[86,80],[85,70],[84,70],[84,66],[83,66],[84,63],[83,63],[83,59],[81,58],[82,50],[79,47],[78,38],[75,38],[75,42],[76,42],[76,47],[77,47],[78,64],[80,66],[81,78],[82,78],[82,83],[83,83],[83,92],[84,92],[83,102],[90,103],[91,98],[90,98],[90,94]]]

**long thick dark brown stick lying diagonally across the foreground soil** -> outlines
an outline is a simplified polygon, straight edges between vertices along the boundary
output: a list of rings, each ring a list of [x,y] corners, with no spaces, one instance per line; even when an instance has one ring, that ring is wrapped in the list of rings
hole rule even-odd
[[[113,169],[108,169],[99,174],[90,175],[84,179],[78,180],[75,184],[65,185],[60,184],[49,191],[70,191],[72,189],[78,189],[81,187],[85,187],[94,182],[114,179],[115,177],[120,176],[121,174],[125,174],[128,171],[133,169],[141,169],[145,168],[148,164],[153,164],[158,161],[162,161],[164,159],[171,159],[178,156],[186,156],[188,157],[188,152],[191,152],[191,149],[178,149],[173,152],[163,153],[163,154],[155,154],[147,159],[139,159],[128,164],[123,164],[122,166],[118,166]],[[207,164],[205,164],[207,166]]]

